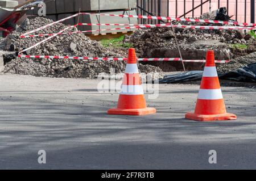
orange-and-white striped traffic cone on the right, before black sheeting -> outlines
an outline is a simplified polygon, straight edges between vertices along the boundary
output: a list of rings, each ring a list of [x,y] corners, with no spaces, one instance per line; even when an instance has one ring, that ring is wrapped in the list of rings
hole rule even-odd
[[[196,121],[234,120],[237,116],[226,113],[220,82],[215,66],[214,51],[208,50],[203,79],[197,98],[195,113],[187,113],[185,118]]]

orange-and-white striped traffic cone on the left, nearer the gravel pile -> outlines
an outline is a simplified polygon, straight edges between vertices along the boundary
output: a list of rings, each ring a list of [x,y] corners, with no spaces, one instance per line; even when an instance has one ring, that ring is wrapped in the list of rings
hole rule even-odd
[[[146,106],[135,49],[130,48],[117,108],[108,110],[108,114],[139,116],[155,112],[155,108]]]

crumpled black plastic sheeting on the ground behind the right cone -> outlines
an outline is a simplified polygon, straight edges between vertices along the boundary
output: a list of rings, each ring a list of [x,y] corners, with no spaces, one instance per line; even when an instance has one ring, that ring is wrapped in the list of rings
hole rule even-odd
[[[187,71],[174,75],[166,75],[159,79],[159,83],[178,83],[186,81],[201,81],[203,71]],[[256,63],[249,64],[244,68],[230,71],[228,73],[219,73],[219,79],[239,82],[256,82]]]

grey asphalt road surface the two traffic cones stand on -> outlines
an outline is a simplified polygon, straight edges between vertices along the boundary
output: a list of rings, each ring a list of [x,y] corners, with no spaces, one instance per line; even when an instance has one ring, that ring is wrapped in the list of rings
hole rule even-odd
[[[256,169],[255,89],[222,87],[236,121],[200,123],[199,85],[159,85],[147,116],[107,115],[99,81],[0,74],[0,169]],[[38,150],[47,163],[39,165]],[[209,150],[217,164],[209,164]]]

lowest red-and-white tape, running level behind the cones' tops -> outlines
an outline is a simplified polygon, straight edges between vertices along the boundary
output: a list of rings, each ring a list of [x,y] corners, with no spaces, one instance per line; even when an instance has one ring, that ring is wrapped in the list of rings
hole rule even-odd
[[[127,61],[127,58],[108,58],[108,57],[71,57],[71,56],[33,56],[21,55],[21,58],[51,58],[51,59],[73,59],[73,60],[114,60],[114,61]],[[205,62],[205,60],[181,60],[181,58],[138,58],[138,61],[184,61],[184,62]],[[216,63],[228,63],[229,60],[216,60]]]

